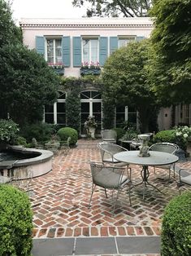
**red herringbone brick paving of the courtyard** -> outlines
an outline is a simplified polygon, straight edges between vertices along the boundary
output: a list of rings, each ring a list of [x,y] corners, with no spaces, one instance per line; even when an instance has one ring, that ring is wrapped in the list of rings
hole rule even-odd
[[[34,238],[160,235],[163,209],[173,196],[179,194],[175,180],[167,183],[167,170],[157,169],[157,174],[154,174],[150,167],[150,183],[154,183],[163,194],[149,186],[143,201],[143,188],[132,188],[130,206],[128,194],[124,191],[112,215],[110,192],[106,198],[104,191],[97,187],[92,207],[88,208],[92,186],[89,161],[101,160],[97,143],[98,140],[80,139],[78,146],[67,156],[59,152],[54,157],[50,173],[33,179],[30,199]],[[178,165],[190,168],[191,162]],[[132,181],[141,181],[141,166],[131,167]]]

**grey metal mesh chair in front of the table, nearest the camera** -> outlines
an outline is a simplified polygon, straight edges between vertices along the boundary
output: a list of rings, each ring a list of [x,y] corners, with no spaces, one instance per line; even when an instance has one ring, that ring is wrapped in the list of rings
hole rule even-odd
[[[97,162],[90,162],[90,168],[91,168],[91,174],[92,174],[92,192],[89,200],[89,207],[91,205],[93,192],[95,191],[96,186],[104,188],[105,194],[106,189],[112,190],[112,200],[114,191],[117,191],[117,195],[115,198],[115,202],[112,209],[112,214],[114,214],[115,206],[117,203],[117,200],[119,198],[119,193],[121,190],[125,187],[125,185],[128,185],[128,196],[129,196],[129,202],[130,205],[132,205],[131,202],[131,179],[128,179],[126,175],[124,175],[125,169],[122,167],[115,167],[115,166],[104,166],[102,163]],[[106,198],[108,198],[106,194]]]

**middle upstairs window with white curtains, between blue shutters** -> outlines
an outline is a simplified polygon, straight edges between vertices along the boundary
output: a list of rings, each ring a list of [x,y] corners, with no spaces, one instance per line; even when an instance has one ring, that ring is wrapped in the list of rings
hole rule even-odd
[[[98,62],[98,38],[82,40],[82,62],[89,65]]]

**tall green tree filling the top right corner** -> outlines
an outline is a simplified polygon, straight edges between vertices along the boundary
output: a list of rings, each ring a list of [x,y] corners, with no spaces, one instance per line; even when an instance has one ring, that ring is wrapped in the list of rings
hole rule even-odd
[[[191,1],[156,0],[150,79],[163,105],[191,103]]]

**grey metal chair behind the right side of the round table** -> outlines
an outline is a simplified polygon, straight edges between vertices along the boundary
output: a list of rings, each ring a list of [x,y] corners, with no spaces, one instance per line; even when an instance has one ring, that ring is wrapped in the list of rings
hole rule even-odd
[[[179,149],[179,146],[175,143],[154,143],[150,146],[150,151],[158,151],[158,152],[167,152],[170,154],[175,154],[176,150]],[[163,168],[169,170],[168,180],[171,179],[171,170],[173,171],[174,178],[175,178],[175,164],[167,165],[167,166],[157,166],[157,168]],[[154,174],[155,174],[155,166],[154,166]]]

